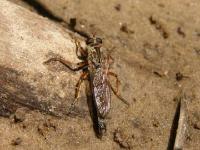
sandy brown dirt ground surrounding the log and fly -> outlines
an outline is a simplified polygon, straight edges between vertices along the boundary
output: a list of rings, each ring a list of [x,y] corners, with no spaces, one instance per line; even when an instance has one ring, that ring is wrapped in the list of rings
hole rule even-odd
[[[108,51],[115,47],[112,70],[130,106],[112,95],[107,133],[98,139],[83,86],[78,105],[83,114],[56,118],[21,108],[10,118],[0,117],[0,149],[172,149],[171,129],[182,95],[188,114],[184,149],[200,149],[199,1],[10,1],[80,35],[102,37]]]

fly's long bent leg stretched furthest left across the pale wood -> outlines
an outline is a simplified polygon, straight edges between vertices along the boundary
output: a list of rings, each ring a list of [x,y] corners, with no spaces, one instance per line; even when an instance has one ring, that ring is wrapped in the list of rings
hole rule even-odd
[[[64,60],[63,58],[60,57],[55,57],[55,58],[50,58],[49,60],[45,61],[44,64],[47,64],[51,61],[58,61],[60,63],[62,63],[63,65],[65,65],[67,68],[69,68],[72,71],[78,71],[83,69],[84,67],[87,67],[88,63],[87,61],[83,61],[83,62],[79,62],[77,64],[73,64],[67,60]]]

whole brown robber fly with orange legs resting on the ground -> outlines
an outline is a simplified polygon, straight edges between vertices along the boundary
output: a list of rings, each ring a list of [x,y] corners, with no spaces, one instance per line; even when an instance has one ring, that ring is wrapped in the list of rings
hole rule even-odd
[[[122,98],[118,93],[119,79],[117,74],[111,72],[110,65],[113,59],[110,55],[105,56],[102,52],[102,39],[98,37],[89,37],[86,40],[86,48],[81,47],[80,42],[75,40],[76,55],[81,60],[80,63],[72,64],[71,62],[62,58],[51,58],[45,63],[50,61],[59,61],[73,71],[83,70],[75,89],[75,99],[71,104],[71,108],[75,106],[78,101],[80,86],[83,80],[88,79],[90,82],[90,89],[92,92],[93,104],[96,110],[98,135],[101,137],[106,132],[106,118],[111,105],[111,91],[125,104],[129,103]],[[116,89],[111,85],[108,76],[116,78]]]

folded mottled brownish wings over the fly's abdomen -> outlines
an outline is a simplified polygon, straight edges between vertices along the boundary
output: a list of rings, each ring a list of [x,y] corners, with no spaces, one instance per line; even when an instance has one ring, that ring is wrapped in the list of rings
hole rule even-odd
[[[107,84],[106,75],[102,68],[96,70],[93,78],[93,97],[97,106],[97,112],[104,118],[110,110],[110,87]]]

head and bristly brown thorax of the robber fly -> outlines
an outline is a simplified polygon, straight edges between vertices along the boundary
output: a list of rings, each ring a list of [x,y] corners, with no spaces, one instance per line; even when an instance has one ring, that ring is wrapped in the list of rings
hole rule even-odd
[[[101,65],[101,46],[102,39],[98,37],[88,38],[86,41],[88,50],[88,60],[92,62],[95,68]]]

